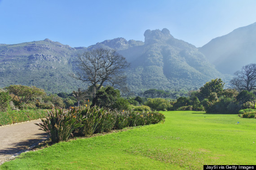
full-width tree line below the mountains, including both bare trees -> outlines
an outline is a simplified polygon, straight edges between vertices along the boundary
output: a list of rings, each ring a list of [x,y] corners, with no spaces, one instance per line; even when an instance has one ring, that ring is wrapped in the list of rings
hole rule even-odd
[[[230,81],[234,89],[224,89],[220,78],[204,84],[197,91],[166,92],[149,89],[139,96],[121,97],[128,92],[124,71],[129,63],[115,50],[97,48],[79,55],[78,71],[71,76],[89,83],[86,90],[70,94],[46,95],[43,89],[10,85],[0,91],[0,110],[49,109],[53,105],[71,107],[85,104],[110,109],[205,110],[208,113],[235,113],[255,100],[256,64],[243,66]],[[165,99],[163,99],[165,98]],[[176,100],[173,100],[176,99]]]

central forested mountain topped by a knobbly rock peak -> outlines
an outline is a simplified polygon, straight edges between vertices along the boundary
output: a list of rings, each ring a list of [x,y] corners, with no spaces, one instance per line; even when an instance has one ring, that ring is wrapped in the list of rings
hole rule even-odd
[[[183,40],[175,39],[170,31],[146,30],[145,42],[136,42],[134,46],[128,45],[130,41],[114,39],[116,43],[106,41],[90,46],[97,48],[118,47],[118,52],[131,63],[126,72],[128,85],[134,92],[143,92],[150,88],[161,90],[194,90],[203,86],[213,78],[223,78],[214,65],[210,64],[198,48]],[[115,45],[113,45],[115,44]]]

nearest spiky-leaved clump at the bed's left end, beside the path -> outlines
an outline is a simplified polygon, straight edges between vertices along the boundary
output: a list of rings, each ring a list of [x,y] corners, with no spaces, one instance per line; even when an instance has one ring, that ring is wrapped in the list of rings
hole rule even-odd
[[[62,108],[53,107],[48,116],[41,119],[42,123],[35,123],[42,130],[46,131],[53,143],[66,141],[71,133],[81,126],[76,117],[79,117],[77,109],[64,110]]]

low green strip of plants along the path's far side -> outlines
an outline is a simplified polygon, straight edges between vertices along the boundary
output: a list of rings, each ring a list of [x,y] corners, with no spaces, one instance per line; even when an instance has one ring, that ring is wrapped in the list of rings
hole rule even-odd
[[[36,120],[46,115],[47,111],[42,109],[0,112],[0,126]]]

